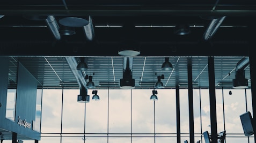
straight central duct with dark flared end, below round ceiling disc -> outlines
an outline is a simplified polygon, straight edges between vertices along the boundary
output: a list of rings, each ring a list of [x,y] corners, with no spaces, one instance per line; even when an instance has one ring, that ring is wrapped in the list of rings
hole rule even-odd
[[[133,79],[133,57],[123,57],[123,78],[120,79],[120,87],[122,89],[135,88],[135,80]]]

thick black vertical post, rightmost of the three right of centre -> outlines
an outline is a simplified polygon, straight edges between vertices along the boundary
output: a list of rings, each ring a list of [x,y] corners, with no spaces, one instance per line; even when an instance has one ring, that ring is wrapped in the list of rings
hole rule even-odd
[[[210,96],[211,143],[217,143],[217,116],[216,116],[214,57],[208,57],[208,78],[209,78],[209,96]]]

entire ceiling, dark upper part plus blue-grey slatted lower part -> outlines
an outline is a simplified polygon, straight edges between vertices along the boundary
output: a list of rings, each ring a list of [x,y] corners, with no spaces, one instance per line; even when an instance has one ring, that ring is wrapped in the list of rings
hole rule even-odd
[[[136,88],[149,88],[164,74],[165,87],[187,86],[187,61],[192,59],[195,87],[208,87],[208,57],[215,58],[216,87],[232,87],[236,64],[248,57],[254,39],[255,1],[8,1],[0,2],[0,56],[10,57],[9,77],[17,62],[23,64],[44,87],[78,87],[67,57],[85,57],[98,88],[119,88],[123,72],[123,46],[133,43],[140,55],[133,57]],[[46,19],[53,16],[59,27],[67,17],[92,20],[93,39],[84,26],[76,34],[54,37]],[[205,39],[211,22],[223,18]],[[81,21],[70,21],[72,25]],[[175,26],[189,26],[187,35],[174,34]],[[213,28],[213,27],[212,27]],[[213,28],[214,29],[214,28]],[[162,71],[169,57],[172,71]],[[230,76],[229,76],[230,73]],[[250,85],[250,67],[245,77]]]

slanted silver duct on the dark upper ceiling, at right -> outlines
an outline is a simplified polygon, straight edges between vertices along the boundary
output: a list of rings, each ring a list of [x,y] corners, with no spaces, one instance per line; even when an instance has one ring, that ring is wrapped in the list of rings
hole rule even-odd
[[[209,26],[207,27],[206,31],[203,34],[203,39],[206,41],[210,40],[213,37],[213,35],[216,33],[217,29],[221,26],[225,18],[226,17],[224,16],[221,18],[216,18],[211,20]]]

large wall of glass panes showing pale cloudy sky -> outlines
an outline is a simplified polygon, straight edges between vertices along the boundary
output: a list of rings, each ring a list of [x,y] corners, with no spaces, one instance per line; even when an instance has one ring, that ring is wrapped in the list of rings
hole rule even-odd
[[[239,115],[252,111],[250,89],[216,89],[217,131],[226,142],[245,137]],[[40,142],[177,142],[175,89],[98,89],[100,100],[77,102],[79,89],[43,89]],[[88,94],[92,97],[92,89]],[[189,140],[188,91],[180,89],[181,142]],[[193,89],[194,138],[210,133],[209,90]],[[26,141],[25,141],[26,142]]]

